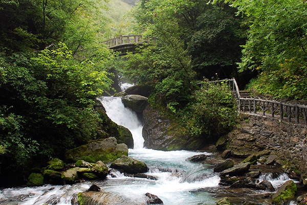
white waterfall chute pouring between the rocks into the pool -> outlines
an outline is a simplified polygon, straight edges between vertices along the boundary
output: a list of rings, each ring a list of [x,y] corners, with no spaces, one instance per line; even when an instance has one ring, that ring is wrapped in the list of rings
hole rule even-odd
[[[107,116],[112,121],[130,130],[134,140],[134,149],[142,149],[144,144],[142,136],[143,126],[136,112],[125,108],[121,97],[102,97],[100,101],[105,108]]]

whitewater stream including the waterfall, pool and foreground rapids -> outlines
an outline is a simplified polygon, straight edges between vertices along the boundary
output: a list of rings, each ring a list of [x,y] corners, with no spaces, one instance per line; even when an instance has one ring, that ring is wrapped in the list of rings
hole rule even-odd
[[[262,200],[267,192],[248,190],[240,198],[240,194],[229,193],[218,185],[221,178],[213,173],[212,163],[195,163],[186,158],[198,154],[206,154],[214,159],[214,153],[196,151],[158,151],[143,147],[142,124],[134,111],[125,108],[120,97],[103,97],[101,102],[107,115],[118,125],[130,130],[134,138],[134,149],[129,149],[129,157],[144,161],[149,168],[148,175],[158,180],[146,178],[127,177],[117,171],[111,171],[105,180],[84,181],[74,185],[44,185],[41,187],[19,187],[0,190],[0,204],[6,205],[42,205],[47,204],[77,204],[76,198],[79,192],[86,191],[95,184],[102,191],[124,196],[130,201],[141,201],[146,204],[144,194],[151,193],[162,199],[165,205],[213,205],[225,195],[238,195],[236,204],[243,204],[248,199],[254,202]],[[209,160],[210,161],[210,160]],[[211,160],[212,161],[212,160]],[[283,174],[277,178],[266,174],[259,177],[259,181],[267,179],[275,188],[289,180],[288,175]],[[257,197],[260,197],[258,199]],[[269,204],[263,200],[260,204]],[[291,202],[291,204],[295,204]]]

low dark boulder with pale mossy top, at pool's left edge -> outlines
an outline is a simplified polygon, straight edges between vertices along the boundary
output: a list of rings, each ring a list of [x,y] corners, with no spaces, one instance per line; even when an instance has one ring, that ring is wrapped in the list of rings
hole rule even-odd
[[[125,155],[113,161],[111,168],[123,170],[128,174],[144,173],[148,171],[148,167],[143,161]]]

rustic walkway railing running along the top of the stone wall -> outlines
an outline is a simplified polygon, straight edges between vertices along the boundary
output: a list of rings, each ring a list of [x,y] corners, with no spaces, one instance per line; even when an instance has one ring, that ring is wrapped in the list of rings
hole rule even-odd
[[[271,115],[279,117],[280,120],[288,119],[289,122],[299,124],[303,122],[307,125],[307,106],[300,104],[286,104],[275,100],[265,100],[260,98],[249,98],[240,96],[235,78],[217,80],[214,82],[228,81],[238,102],[238,110],[245,113],[254,113],[260,115]]]

